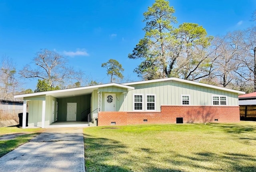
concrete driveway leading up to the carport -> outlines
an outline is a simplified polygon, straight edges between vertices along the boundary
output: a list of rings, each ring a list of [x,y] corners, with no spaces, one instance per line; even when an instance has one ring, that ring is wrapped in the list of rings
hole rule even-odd
[[[3,172],[84,172],[82,128],[45,132],[0,158]]]

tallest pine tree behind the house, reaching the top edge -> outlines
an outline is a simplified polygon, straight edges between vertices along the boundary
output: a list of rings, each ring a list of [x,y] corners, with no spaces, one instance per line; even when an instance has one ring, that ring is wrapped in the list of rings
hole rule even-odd
[[[156,0],[143,14],[143,22],[146,22],[143,29],[145,36],[128,57],[143,59],[134,71],[145,79],[165,78],[168,75],[168,61],[172,59],[167,47],[172,41],[172,24],[177,22],[176,17],[172,15],[174,12],[168,1]]]

